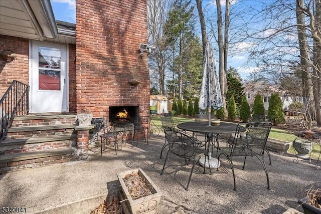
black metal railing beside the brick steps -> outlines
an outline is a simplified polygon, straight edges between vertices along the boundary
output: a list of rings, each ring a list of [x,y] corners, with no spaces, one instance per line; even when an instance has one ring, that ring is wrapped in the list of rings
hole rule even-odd
[[[15,116],[29,114],[29,85],[14,80],[0,100],[0,143]]]

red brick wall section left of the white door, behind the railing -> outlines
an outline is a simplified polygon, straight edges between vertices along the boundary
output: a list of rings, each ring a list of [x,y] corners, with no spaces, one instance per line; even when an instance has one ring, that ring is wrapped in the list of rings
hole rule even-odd
[[[13,62],[0,57],[0,98],[13,80],[29,85],[29,40],[1,35],[0,52],[10,50],[17,55]]]

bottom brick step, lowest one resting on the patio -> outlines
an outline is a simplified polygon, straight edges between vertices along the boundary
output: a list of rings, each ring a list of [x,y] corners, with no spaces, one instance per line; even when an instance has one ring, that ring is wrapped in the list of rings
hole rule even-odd
[[[0,174],[54,163],[78,160],[73,148],[58,148],[45,151],[21,152],[0,155]]]

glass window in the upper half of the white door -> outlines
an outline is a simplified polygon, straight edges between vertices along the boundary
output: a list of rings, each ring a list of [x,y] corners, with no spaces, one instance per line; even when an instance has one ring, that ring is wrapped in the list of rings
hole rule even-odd
[[[61,51],[39,46],[39,90],[60,90]]]

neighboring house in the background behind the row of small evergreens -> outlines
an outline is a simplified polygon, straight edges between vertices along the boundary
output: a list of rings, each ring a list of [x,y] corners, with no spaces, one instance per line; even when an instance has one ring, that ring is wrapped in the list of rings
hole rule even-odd
[[[288,92],[280,91],[279,89],[272,86],[262,86],[257,83],[249,83],[249,82],[243,84],[243,86],[244,86],[244,94],[246,96],[247,102],[249,103],[251,109],[253,108],[253,102],[257,94],[262,96],[263,104],[266,112],[269,108],[269,101],[272,93],[279,93],[284,111],[289,110],[288,107],[293,101],[302,102],[301,97],[290,96]]]

